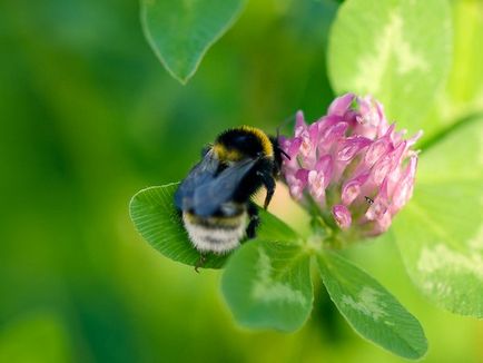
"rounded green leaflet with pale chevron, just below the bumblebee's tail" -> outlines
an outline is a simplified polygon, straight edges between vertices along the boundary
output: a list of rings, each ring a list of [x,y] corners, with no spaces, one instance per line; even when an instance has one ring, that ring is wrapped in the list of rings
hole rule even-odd
[[[299,328],[312,310],[309,256],[300,245],[255,239],[229,258],[223,294],[236,321],[252,328]]]

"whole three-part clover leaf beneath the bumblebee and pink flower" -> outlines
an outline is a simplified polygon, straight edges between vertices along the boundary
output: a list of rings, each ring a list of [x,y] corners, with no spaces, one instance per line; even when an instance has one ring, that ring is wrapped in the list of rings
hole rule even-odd
[[[193,247],[174,207],[178,184],[136,194],[131,218],[165,256],[195,265]],[[318,244],[309,245],[286,224],[262,212],[258,238],[228,258],[221,292],[236,321],[250,328],[298,330],[312,311],[310,257],[318,252],[323,282],[342,314],[361,335],[408,359],[426,352],[424,332],[413,315],[372,276]],[[210,255],[204,267],[221,267],[227,256]]]

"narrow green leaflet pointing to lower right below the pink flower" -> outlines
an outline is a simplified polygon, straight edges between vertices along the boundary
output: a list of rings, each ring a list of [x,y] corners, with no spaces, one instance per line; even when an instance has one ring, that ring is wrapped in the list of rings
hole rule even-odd
[[[363,337],[407,359],[426,353],[420,322],[372,276],[328,251],[318,255],[318,267],[332,301]]]

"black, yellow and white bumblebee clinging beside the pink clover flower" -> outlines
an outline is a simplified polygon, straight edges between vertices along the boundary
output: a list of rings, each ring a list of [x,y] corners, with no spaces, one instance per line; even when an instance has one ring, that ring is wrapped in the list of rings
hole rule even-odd
[[[283,154],[277,138],[249,126],[221,133],[201,151],[201,160],[175,194],[201,259],[206,253],[226,254],[255,237],[259,217],[252,197],[265,187],[264,208],[268,207]]]

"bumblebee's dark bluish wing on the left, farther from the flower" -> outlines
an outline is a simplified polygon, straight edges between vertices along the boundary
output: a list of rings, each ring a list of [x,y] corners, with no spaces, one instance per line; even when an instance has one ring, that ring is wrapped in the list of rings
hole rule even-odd
[[[216,170],[218,169],[218,160],[215,159],[211,153],[207,153],[205,157],[189,170],[188,176],[181,182],[175,193],[175,205],[181,210],[190,210],[195,208],[195,192],[201,185],[209,184],[215,179]]]

